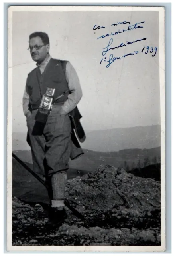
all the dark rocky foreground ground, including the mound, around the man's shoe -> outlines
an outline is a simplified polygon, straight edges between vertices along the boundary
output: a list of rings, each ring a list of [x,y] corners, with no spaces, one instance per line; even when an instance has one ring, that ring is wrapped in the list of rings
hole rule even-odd
[[[160,246],[160,182],[112,166],[68,180],[68,218],[47,226],[47,205],[13,197],[12,245]]]

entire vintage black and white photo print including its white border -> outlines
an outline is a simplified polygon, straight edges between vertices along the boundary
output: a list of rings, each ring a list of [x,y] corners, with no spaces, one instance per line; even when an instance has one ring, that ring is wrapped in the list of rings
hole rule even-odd
[[[9,250],[165,250],[164,54],[162,7],[9,8]]]

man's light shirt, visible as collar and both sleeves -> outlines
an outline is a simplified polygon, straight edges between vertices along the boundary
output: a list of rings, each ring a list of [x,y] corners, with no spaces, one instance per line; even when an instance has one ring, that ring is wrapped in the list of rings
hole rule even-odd
[[[42,65],[37,64],[37,66],[39,66],[41,74],[44,72],[44,69],[50,60],[51,60],[51,56],[49,56],[49,58],[44,64]],[[61,108],[63,108],[63,110],[68,114],[79,103],[82,97],[82,90],[81,90],[79,78],[77,76],[77,72],[75,71],[75,69],[73,68],[70,62],[67,62],[66,64],[65,76],[66,76],[66,81],[68,83],[70,94],[67,96],[67,100],[63,103]],[[29,95],[26,92],[26,88],[24,90],[22,101],[23,101],[23,112],[24,112],[24,115],[27,116],[29,112],[29,107],[28,107]]]

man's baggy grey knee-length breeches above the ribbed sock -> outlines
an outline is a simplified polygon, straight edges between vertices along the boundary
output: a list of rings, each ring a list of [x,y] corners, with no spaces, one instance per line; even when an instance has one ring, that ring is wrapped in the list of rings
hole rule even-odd
[[[50,176],[68,168],[71,120],[68,115],[59,114],[60,108],[61,106],[53,105],[45,125],[35,121],[38,110],[33,110],[27,118],[33,171],[43,176]]]

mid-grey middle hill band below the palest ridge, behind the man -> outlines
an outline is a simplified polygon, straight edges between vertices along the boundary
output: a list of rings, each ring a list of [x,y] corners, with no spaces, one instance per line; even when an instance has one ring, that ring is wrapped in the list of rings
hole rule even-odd
[[[151,149],[126,149],[118,152],[98,152],[83,149],[84,155],[69,161],[69,167],[75,170],[92,171],[100,164],[123,167],[126,170],[144,167],[160,162],[160,147]],[[30,150],[14,151],[22,161],[32,164]]]

